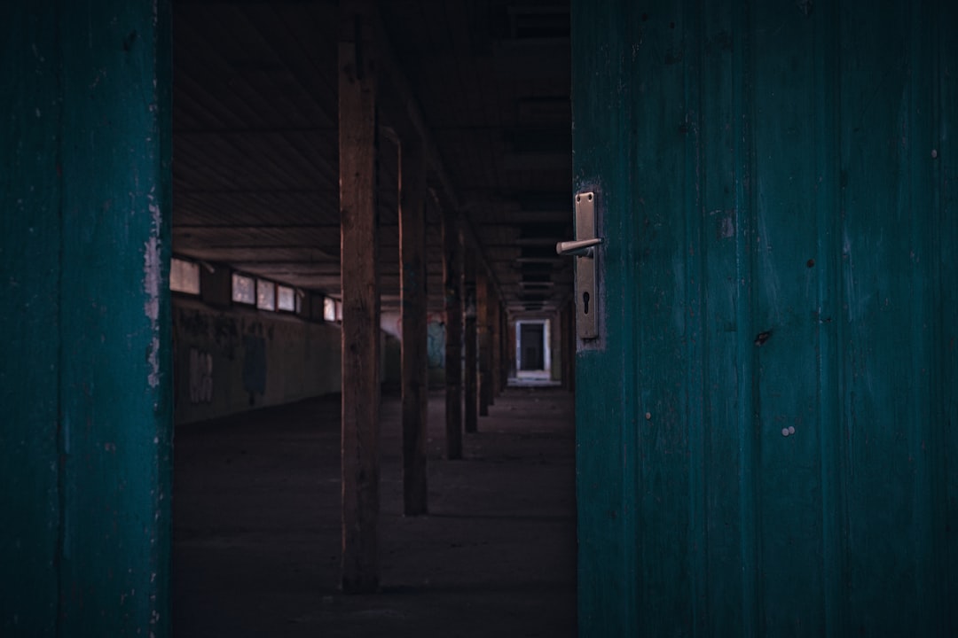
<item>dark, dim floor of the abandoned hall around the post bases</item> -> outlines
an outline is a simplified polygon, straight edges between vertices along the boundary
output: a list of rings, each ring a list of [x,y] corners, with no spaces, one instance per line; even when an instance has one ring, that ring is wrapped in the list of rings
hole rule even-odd
[[[176,430],[173,633],[203,636],[576,635],[572,395],[511,387],[445,461],[429,402],[427,517],[402,517],[399,397],[382,405],[382,591],[339,568],[339,402]]]

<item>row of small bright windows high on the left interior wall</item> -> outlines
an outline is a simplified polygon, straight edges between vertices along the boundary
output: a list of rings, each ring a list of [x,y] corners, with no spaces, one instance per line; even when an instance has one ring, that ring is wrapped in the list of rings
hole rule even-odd
[[[170,266],[170,290],[187,295],[199,295],[200,265],[187,259],[172,258]],[[284,284],[254,277],[233,274],[232,298],[235,303],[256,306],[261,310],[289,313],[303,313],[303,303],[307,295],[296,288]],[[332,297],[311,297],[314,302],[322,298],[323,319],[340,321],[343,319],[343,305]],[[318,311],[318,308],[317,308]],[[312,315],[312,313],[305,313]]]

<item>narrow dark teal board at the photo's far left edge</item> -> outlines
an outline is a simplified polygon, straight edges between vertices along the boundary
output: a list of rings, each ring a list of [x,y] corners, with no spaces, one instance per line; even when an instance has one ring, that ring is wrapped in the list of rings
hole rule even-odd
[[[57,58],[33,52],[57,49],[56,5],[0,9],[0,507],[17,513],[0,525],[0,563],[18,575],[0,580],[5,635],[21,623],[37,635],[57,631],[62,87]]]

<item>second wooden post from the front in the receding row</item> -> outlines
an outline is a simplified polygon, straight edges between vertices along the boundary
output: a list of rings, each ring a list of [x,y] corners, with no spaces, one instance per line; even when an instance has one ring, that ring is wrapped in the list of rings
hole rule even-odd
[[[399,152],[399,278],[402,322],[402,511],[425,514],[428,403],[425,163],[419,143]]]

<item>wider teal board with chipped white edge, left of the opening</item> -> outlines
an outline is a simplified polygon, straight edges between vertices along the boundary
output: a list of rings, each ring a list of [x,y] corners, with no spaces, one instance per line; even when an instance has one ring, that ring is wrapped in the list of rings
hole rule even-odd
[[[64,3],[59,19],[60,622],[64,634],[167,635],[170,4]]]

